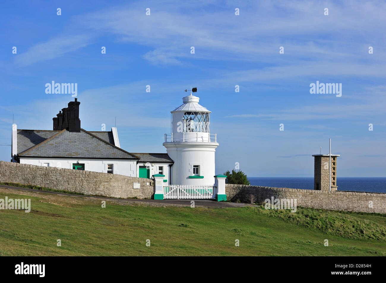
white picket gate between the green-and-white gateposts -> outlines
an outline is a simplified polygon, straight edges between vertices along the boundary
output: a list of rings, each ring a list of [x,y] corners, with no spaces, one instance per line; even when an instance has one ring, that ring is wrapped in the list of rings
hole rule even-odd
[[[164,199],[214,199],[216,187],[169,185],[164,186]]]

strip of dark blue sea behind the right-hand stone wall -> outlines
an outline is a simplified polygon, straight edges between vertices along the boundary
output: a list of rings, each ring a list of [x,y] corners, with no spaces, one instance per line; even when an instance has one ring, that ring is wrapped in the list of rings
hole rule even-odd
[[[313,177],[249,177],[252,186],[313,189]],[[386,193],[386,177],[338,177],[338,191]]]

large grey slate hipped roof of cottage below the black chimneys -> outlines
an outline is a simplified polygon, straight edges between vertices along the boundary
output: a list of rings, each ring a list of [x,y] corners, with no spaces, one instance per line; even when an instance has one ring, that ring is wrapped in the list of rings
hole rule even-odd
[[[97,134],[106,136],[100,132]],[[19,137],[22,137],[20,151]],[[38,143],[39,141],[41,142]],[[31,144],[32,147],[25,149]],[[17,146],[20,157],[138,159],[134,154],[83,129],[80,132],[69,132],[66,129],[62,131],[18,130]]]

